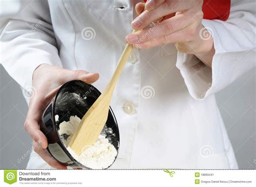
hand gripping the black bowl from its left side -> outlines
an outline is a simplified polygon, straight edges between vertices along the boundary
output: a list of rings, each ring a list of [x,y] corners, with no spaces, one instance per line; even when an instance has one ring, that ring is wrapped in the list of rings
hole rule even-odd
[[[42,64],[33,72],[32,94],[29,102],[29,110],[24,123],[24,128],[33,139],[33,149],[51,167],[66,169],[46,150],[48,141],[39,128],[39,121],[45,107],[49,104],[59,87],[71,80],[82,80],[91,84],[98,80],[98,73],[88,73],[83,70],[65,70],[57,66]]]

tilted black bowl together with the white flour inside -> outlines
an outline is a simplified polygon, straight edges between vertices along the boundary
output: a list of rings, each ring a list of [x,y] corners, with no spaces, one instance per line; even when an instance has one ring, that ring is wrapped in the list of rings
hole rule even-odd
[[[47,150],[58,162],[73,168],[107,169],[116,160],[120,138],[111,108],[102,133],[92,146],[86,147],[80,155],[68,147],[80,119],[99,95],[98,89],[92,85],[78,80],[69,81],[59,88],[45,109],[40,129],[48,138]]]

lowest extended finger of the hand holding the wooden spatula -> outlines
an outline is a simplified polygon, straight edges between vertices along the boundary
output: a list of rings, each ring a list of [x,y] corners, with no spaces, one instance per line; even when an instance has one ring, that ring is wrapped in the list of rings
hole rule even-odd
[[[135,44],[134,47],[136,47],[137,49],[148,49],[151,47],[162,46],[169,43],[188,43],[194,38],[194,34],[196,34],[196,30],[187,27],[172,34],[153,38],[144,43]]]

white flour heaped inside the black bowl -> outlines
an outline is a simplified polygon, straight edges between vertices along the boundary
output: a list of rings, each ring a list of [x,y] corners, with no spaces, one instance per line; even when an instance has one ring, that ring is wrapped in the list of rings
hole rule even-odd
[[[55,116],[58,119],[58,115]],[[79,156],[70,148],[68,144],[75,133],[80,119],[77,116],[71,116],[68,122],[63,121],[59,124],[59,135],[67,147],[69,153],[81,164],[91,169],[105,169],[109,167],[117,156],[117,150],[105,137],[100,134],[98,140]],[[67,137],[68,135],[68,137]]]

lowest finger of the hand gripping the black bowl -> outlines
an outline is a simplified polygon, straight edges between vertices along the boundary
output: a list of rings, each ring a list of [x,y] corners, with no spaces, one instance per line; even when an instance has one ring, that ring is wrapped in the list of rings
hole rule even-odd
[[[34,144],[35,145],[35,144]],[[43,158],[43,160],[48,163],[51,167],[56,169],[67,169],[65,165],[60,164],[55,158],[51,156],[48,150],[43,149],[41,146],[33,147],[35,152]]]

